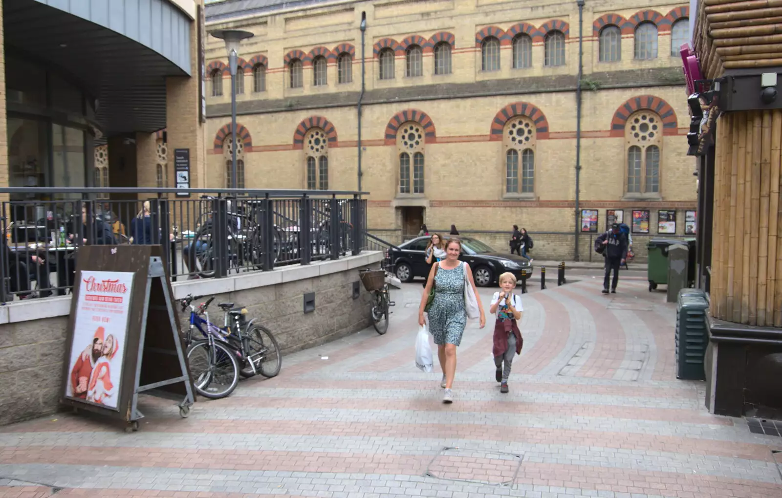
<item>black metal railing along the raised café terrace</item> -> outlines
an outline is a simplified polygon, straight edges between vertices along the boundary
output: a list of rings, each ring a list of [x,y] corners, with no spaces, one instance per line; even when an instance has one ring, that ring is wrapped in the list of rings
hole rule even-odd
[[[186,198],[176,194],[187,192]],[[161,245],[172,279],[224,278],[367,249],[361,192],[0,188],[0,302],[64,295],[82,245]],[[111,199],[95,199],[97,195]]]

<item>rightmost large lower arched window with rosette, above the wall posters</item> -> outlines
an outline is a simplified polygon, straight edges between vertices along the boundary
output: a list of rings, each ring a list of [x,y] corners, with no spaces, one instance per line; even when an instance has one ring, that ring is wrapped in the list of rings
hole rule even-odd
[[[662,120],[651,111],[639,111],[625,124],[627,143],[627,193],[660,192]]]

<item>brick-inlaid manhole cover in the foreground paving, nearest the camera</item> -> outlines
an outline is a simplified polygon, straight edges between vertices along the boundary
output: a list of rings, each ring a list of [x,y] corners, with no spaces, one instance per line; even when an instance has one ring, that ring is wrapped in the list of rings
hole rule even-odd
[[[448,481],[512,485],[522,466],[522,454],[445,447],[426,469],[426,475]]]

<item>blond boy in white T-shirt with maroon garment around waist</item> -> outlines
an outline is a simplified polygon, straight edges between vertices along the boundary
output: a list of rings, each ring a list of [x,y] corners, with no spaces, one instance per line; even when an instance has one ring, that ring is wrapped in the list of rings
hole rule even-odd
[[[494,321],[494,340],[492,354],[497,371],[494,378],[500,382],[500,392],[508,392],[508,377],[511,375],[511,364],[517,354],[522,353],[522,332],[518,330],[518,321],[522,319],[521,296],[516,296],[516,278],[511,272],[500,275],[500,292],[494,292],[489,313],[497,315]]]

